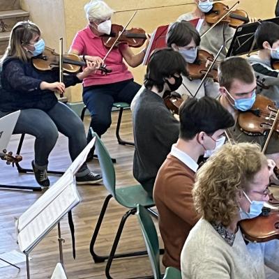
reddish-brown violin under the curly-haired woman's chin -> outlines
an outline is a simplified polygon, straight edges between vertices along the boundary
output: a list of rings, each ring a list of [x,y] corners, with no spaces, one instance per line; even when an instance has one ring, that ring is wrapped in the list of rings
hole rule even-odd
[[[249,241],[265,242],[279,239],[279,211],[264,207],[260,216],[239,221],[239,227]]]

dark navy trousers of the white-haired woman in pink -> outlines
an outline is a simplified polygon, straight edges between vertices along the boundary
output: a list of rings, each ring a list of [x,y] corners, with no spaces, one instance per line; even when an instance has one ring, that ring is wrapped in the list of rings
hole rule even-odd
[[[133,80],[84,87],[83,101],[91,115],[90,126],[99,137],[110,128],[113,103],[130,104],[140,87]],[[87,141],[91,139],[91,133],[88,133]]]

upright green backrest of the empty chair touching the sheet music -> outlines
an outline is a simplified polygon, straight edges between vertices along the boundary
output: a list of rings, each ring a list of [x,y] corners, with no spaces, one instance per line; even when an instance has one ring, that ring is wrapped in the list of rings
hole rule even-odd
[[[95,146],[100,163],[100,169],[103,175],[103,183],[105,188],[107,188],[110,194],[115,198],[115,170],[112,159],[110,158],[110,154],[105,148],[105,145],[100,140],[100,137],[93,132],[92,128],[90,128],[90,130],[92,137],[96,137]]]

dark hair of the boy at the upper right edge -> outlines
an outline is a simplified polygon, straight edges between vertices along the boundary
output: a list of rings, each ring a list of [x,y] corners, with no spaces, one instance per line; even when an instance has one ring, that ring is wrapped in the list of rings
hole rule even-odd
[[[269,42],[269,45],[272,47],[273,43],[279,40],[279,26],[274,22],[262,22],[257,27],[257,31],[255,32],[255,39],[257,43],[257,47],[260,50],[263,50],[264,47],[262,44],[266,41]]]

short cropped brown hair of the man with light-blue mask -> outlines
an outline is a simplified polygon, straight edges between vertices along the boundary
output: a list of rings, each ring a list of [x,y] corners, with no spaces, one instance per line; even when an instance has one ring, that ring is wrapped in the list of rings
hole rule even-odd
[[[240,56],[232,56],[223,60],[218,67],[218,82],[229,91],[234,80],[251,84],[255,80],[252,66]]]

